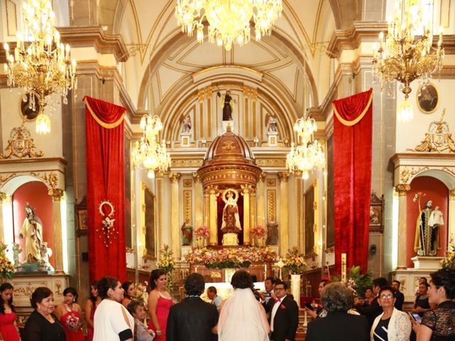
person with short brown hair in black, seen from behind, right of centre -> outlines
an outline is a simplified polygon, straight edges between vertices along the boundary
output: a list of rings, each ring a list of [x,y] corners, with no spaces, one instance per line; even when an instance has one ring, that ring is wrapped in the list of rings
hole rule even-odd
[[[365,316],[348,314],[353,307],[354,297],[345,284],[327,284],[321,293],[325,318],[316,318],[308,325],[306,341],[368,341],[370,328]]]

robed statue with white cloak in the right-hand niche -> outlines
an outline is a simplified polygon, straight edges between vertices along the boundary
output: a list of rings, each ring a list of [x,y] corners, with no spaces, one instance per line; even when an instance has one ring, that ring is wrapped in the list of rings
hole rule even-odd
[[[432,200],[428,200],[417,217],[414,251],[419,256],[436,256],[439,247],[439,226],[444,225],[444,220],[439,206],[432,210],[432,205]]]

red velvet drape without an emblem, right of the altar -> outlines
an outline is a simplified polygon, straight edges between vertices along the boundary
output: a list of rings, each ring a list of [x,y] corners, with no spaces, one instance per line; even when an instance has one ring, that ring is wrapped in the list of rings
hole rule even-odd
[[[341,254],[347,269],[367,270],[370,226],[373,90],[333,101],[333,191],[335,271]]]

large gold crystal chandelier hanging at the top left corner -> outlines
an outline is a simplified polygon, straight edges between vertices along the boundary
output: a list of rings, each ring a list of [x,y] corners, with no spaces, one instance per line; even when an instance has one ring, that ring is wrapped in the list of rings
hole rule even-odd
[[[68,103],[68,90],[75,87],[76,61],[70,60],[70,45],[60,43],[50,1],[24,2],[23,23],[25,29],[23,34],[17,34],[14,53],[4,43],[7,84],[23,88],[23,102],[28,101],[33,111],[38,110],[36,132],[47,134],[50,119],[44,109],[57,104],[53,94],[63,97],[64,104]]]

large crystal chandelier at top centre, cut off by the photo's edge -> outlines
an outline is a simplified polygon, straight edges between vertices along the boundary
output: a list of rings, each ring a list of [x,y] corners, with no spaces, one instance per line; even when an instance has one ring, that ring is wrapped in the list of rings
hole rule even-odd
[[[182,32],[204,41],[203,21],[208,21],[208,40],[226,50],[250,41],[250,21],[255,22],[256,40],[269,35],[283,10],[282,0],[177,0],[176,18]]]

